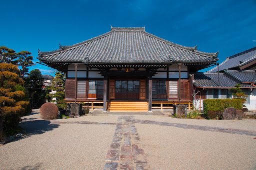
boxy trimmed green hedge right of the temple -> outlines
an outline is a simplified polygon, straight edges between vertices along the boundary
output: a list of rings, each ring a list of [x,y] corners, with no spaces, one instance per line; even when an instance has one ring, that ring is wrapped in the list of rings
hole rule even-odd
[[[234,107],[238,110],[242,109],[242,99],[205,99],[203,100],[203,111],[223,111],[226,108]]]

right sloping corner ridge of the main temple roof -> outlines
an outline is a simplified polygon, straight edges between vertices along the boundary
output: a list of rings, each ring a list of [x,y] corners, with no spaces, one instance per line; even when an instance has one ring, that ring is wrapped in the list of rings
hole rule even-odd
[[[177,48],[181,48],[181,49],[184,49],[184,50],[187,50],[187,51],[191,51],[191,52],[194,52],[194,53],[197,53],[197,54],[200,54],[200,55],[204,55],[204,56],[207,56],[207,57],[213,57],[213,58],[217,58],[217,55],[218,55],[218,51],[215,52],[215,53],[202,52],[202,51],[198,51],[198,50],[197,50],[197,45],[194,46],[194,47],[186,47],[186,46],[179,45],[179,44],[176,44],[176,43],[174,43],[174,42],[168,41],[168,40],[166,40],[166,39],[160,38],[160,37],[158,37],[158,36],[156,36],[156,35],[153,35],[153,34],[151,34],[151,33],[146,32],[145,30],[144,30],[144,31],[141,31],[141,32],[147,34],[148,36],[151,36],[151,37],[153,37],[153,38],[156,38],[156,39],[158,39],[158,40],[160,40],[160,41],[162,41],[162,42],[165,42],[165,43],[167,43],[167,44],[170,44],[170,45],[172,45],[172,46],[175,46],[175,47],[177,47]]]

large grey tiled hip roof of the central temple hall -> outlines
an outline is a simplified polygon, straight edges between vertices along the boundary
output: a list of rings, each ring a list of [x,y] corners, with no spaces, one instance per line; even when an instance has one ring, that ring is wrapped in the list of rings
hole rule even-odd
[[[92,39],[41,52],[40,61],[84,63],[215,62],[218,53],[197,51],[159,38],[139,28],[116,28]]]

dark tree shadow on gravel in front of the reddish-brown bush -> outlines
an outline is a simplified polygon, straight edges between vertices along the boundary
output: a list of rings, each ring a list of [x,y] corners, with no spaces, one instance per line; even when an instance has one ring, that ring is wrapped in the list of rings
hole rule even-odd
[[[26,136],[31,136],[51,131],[55,128],[58,128],[59,125],[50,124],[50,121],[47,120],[31,120],[22,122],[20,127],[26,131]]]

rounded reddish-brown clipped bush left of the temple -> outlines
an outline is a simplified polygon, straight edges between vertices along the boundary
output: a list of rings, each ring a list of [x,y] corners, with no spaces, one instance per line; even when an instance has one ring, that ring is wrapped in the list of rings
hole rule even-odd
[[[58,107],[54,103],[44,103],[40,107],[41,118],[45,120],[56,119],[58,116]]]

